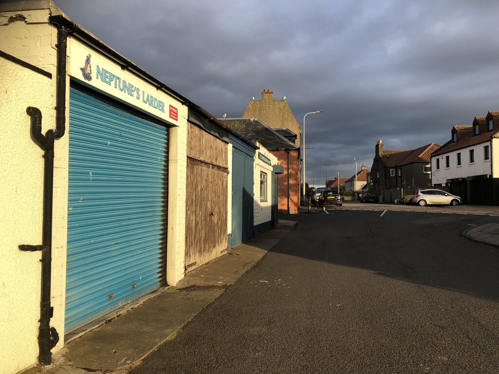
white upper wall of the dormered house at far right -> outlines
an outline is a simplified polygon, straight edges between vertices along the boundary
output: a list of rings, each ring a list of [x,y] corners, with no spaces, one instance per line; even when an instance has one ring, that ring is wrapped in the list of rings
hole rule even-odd
[[[466,178],[471,176],[480,176],[491,174],[491,157],[484,160],[484,146],[490,146],[490,142],[481,143],[472,147],[452,151],[444,155],[432,157],[432,185],[447,183],[448,179]],[[470,150],[475,150],[475,162],[470,164]],[[461,153],[461,166],[457,166],[457,154]],[[446,168],[446,156],[450,156],[450,167]],[[440,169],[437,170],[437,157],[440,159]]]

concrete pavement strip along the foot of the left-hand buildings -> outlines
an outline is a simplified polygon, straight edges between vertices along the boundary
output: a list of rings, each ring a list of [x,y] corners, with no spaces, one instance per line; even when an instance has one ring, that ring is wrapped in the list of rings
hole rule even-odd
[[[295,225],[296,221],[279,220],[276,229],[237,245],[186,274],[176,286],[157,291],[70,340],[53,355],[52,365],[35,366],[22,373],[126,373],[158,345],[175,337],[182,326],[223,294]]]

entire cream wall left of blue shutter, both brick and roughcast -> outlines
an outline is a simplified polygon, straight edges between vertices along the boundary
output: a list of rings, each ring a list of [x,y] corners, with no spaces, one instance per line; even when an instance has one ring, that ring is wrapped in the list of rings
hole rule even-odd
[[[11,21],[11,17],[22,15],[25,19]],[[1,222],[2,253],[14,256],[5,258],[3,264],[16,264],[2,271],[3,280],[0,283],[0,295],[5,300],[7,319],[0,324],[0,336],[8,336],[9,340],[0,339],[0,373],[15,373],[37,362],[38,356],[38,319],[40,298],[40,252],[22,253],[14,249],[18,244],[41,244],[41,203],[43,195],[43,151],[29,137],[29,116],[27,106],[38,107],[42,113],[42,134],[55,127],[55,76],[56,76],[56,29],[48,24],[49,9],[4,11],[0,13],[0,45],[2,51],[31,65],[52,74],[52,79],[44,77],[26,68],[18,67],[8,61],[2,61],[6,66],[0,67],[0,84],[7,84],[8,93],[2,95],[2,123],[8,124],[11,136],[2,142],[18,141],[23,144],[19,149],[13,145],[2,144],[2,199],[1,206],[15,203],[15,208],[23,210],[26,222],[18,222],[21,216],[14,211],[4,211],[3,216],[8,222]],[[10,21],[9,21],[10,20]],[[11,119],[3,119],[9,116]],[[27,133],[26,133],[27,132]],[[18,137],[18,139],[16,139]],[[11,139],[12,138],[12,139]],[[52,269],[51,269],[51,306],[54,316],[50,326],[57,329],[60,336],[64,326],[64,287],[65,287],[65,221],[67,219],[67,156],[64,148],[67,140],[54,142],[54,186],[53,186],[53,219],[52,219]],[[23,151],[21,151],[23,149]],[[3,152],[8,152],[8,161],[3,161]],[[62,154],[61,154],[62,152]],[[20,159],[17,159],[19,157]],[[16,168],[20,163],[20,168]],[[62,173],[61,173],[62,170]],[[62,175],[61,175],[62,174]],[[22,184],[19,181],[22,180]],[[8,186],[4,186],[6,184]],[[29,190],[26,195],[26,190]],[[9,196],[9,193],[17,195]],[[26,196],[26,201],[20,201],[19,196]],[[22,199],[22,197],[20,197]],[[17,202],[15,202],[17,200]],[[12,217],[18,216],[15,219]],[[26,225],[27,223],[27,225]],[[14,224],[15,227],[10,227]],[[22,237],[18,230],[22,229]],[[4,234],[6,230],[8,234]],[[36,238],[35,238],[36,237]],[[39,238],[38,238],[39,237]],[[12,242],[11,240],[14,240]],[[27,263],[24,263],[27,261]],[[2,264],[2,265],[3,265]],[[3,270],[3,269],[2,269]],[[14,272],[15,276],[12,277]],[[26,279],[25,279],[26,278]],[[9,282],[19,283],[19,290],[10,289]],[[36,287],[32,288],[32,285]],[[13,293],[12,293],[13,291]],[[10,299],[15,295],[14,299]],[[12,320],[10,320],[12,319]],[[4,329],[8,330],[5,334]],[[15,334],[12,332],[15,331]],[[11,340],[10,340],[11,339]],[[3,345],[6,345],[3,347]],[[52,350],[56,352],[63,347],[63,339]]]

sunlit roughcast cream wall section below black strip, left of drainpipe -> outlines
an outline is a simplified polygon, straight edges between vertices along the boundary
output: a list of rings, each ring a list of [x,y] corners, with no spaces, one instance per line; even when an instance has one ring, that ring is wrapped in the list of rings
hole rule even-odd
[[[41,253],[21,252],[18,245],[41,244],[43,151],[30,138],[26,107],[41,110],[44,129],[51,122],[52,110],[49,78],[3,58],[0,71],[0,121],[9,129],[0,137],[0,299],[4,309],[0,373],[6,374],[37,362]]]

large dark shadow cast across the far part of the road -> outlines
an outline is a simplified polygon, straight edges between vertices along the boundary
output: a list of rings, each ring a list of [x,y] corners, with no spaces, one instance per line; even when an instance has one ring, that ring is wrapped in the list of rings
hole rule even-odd
[[[499,250],[461,235],[477,216],[336,210],[282,218],[298,225],[272,252],[499,300]]]

